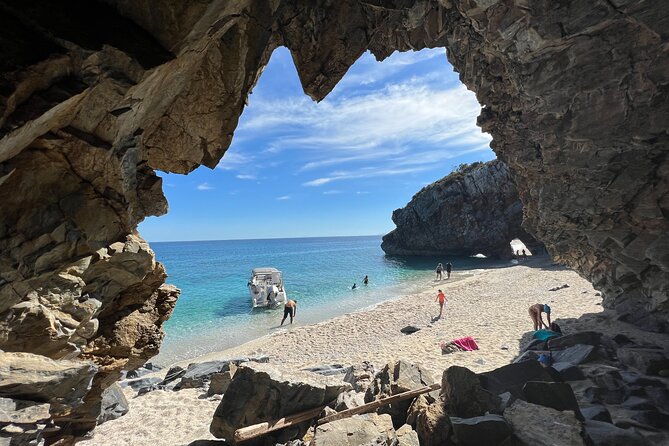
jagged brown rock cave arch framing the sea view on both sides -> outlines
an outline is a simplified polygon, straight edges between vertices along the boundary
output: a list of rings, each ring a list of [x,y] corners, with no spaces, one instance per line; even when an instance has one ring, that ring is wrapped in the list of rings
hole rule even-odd
[[[91,407],[155,354],[178,292],[134,233],[167,210],[154,169],[215,166],[280,45],[315,100],[366,50],[446,47],[526,229],[606,305],[666,328],[668,15],[624,0],[0,0],[0,349],[96,362]]]

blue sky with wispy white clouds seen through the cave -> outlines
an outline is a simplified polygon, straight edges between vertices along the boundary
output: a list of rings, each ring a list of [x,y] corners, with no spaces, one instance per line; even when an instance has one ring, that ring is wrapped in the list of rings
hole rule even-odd
[[[215,169],[160,173],[149,241],[384,234],[392,211],[460,163],[495,158],[443,49],[363,55],[320,103],[277,49]]]

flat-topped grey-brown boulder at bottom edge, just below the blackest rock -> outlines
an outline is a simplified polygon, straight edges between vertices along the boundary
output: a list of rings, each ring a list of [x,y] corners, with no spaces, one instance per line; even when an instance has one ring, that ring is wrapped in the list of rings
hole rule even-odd
[[[573,412],[516,400],[504,411],[513,434],[523,443],[535,446],[585,446],[581,424]]]

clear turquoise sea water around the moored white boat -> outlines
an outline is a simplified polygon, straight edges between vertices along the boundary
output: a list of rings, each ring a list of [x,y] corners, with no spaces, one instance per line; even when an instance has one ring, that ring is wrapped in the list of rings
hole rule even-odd
[[[450,261],[458,272],[500,264],[472,257],[389,258],[380,245],[380,236],[151,243],[167,282],[182,291],[154,362],[194,358],[278,329],[282,309],[251,309],[246,283],[256,267],[283,272],[288,297],[298,301],[294,325],[303,325],[416,292],[434,280],[438,262]]]

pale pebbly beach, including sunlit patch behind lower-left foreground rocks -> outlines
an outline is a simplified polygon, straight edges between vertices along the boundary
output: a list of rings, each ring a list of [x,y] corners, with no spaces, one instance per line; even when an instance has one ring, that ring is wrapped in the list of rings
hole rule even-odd
[[[457,271],[454,278],[458,277]],[[558,291],[551,288],[569,285]],[[437,290],[446,294],[444,317],[435,320]],[[632,339],[643,334],[634,327],[610,323],[599,293],[575,272],[552,264],[547,257],[530,258],[518,265],[479,270],[462,280],[426,283],[424,291],[401,296],[365,311],[346,314],[319,324],[295,324],[255,341],[190,362],[242,355],[268,355],[270,362],[288,368],[322,364],[350,365],[370,361],[381,368],[391,360],[421,364],[439,378],[444,369],[461,365],[475,372],[490,370],[513,360],[529,339],[532,323],[528,307],[548,303],[553,320],[563,331],[596,329],[624,333]],[[299,321],[299,309],[297,321]],[[412,335],[402,327],[421,328]],[[443,355],[440,342],[472,336],[474,352]],[[206,398],[196,389],[154,391],[132,397],[130,412],[107,422],[83,445],[182,445],[212,439],[209,423],[218,398]]]

